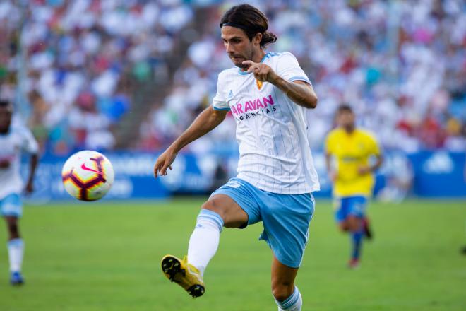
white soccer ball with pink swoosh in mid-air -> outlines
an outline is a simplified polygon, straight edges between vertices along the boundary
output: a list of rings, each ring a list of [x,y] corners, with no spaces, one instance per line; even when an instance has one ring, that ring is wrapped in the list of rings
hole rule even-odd
[[[61,178],[68,194],[78,200],[95,201],[109,192],[114,171],[112,163],[102,153],[85,150],[66,160]]]

